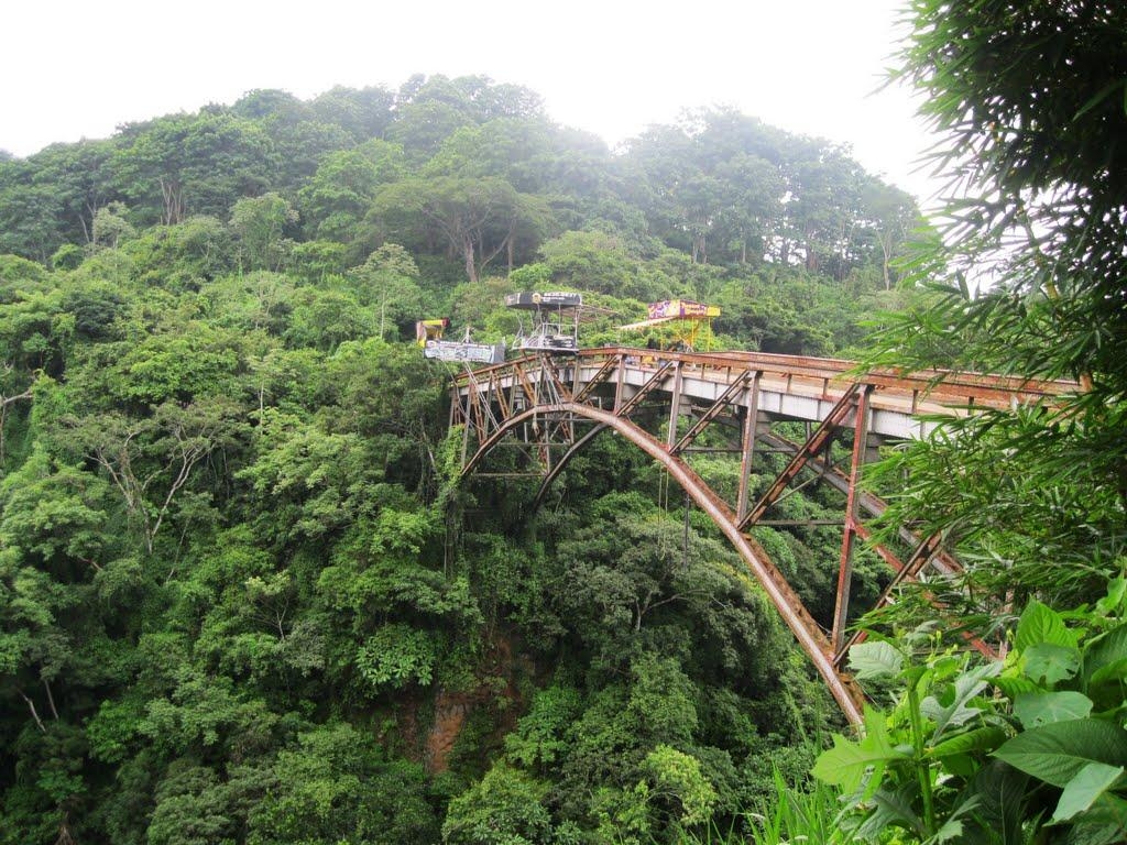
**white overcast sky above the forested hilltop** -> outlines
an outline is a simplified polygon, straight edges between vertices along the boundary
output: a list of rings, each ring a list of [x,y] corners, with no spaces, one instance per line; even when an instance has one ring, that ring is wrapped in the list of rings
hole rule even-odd
[[[0,149],[105,137],[122,123],[255,88],[309,98],[485,74],[540,94],[557,123],[612,145],[685,108],[734,106],[848,143],[926,199],[930,140],[880,87],[906,0],[9,0]],[[913,172],[915,171],[915,172]]]

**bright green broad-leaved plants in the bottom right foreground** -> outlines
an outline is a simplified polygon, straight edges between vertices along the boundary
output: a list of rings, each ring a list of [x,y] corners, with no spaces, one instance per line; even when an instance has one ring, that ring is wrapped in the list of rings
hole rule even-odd
[[[1120,842],[1127,829],[1127,581],[1094,607],[1032,601],[1003,660],[940,653],[921,665],[891,642],[853,648],[861,679],[895,679],[866,736],[834,737],[814,767],[843,789],[861,839]]]

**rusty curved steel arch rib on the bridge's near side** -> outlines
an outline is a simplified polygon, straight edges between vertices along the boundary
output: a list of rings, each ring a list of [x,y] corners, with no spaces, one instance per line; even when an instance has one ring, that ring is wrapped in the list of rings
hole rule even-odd
[[[468,459],[463,475],[469,475],[485,460],[492,448],[511,432],[536,417],[550,415],[568,415],[589,419],[603,428],[593,429],[587,437],[593,439],[594,433],[610,428],[638,446],[642,452],[662,464],[674,478],[685,493],[701,508],[720,532],[728,539],[752,575],[763,587],[767,598],[779,611],[787,626],[795,634],[799,647],[807,653],[822,676],[831,694],[837,701],[845,718],[853,724],[861,724],[864,695],[851,677],[840,671],[834,662],[834,647],[829,638],[806,610],[798,594],[787,582],[787,579],[754,537],[740,531],[736,514],[717,496],[708,483],[680,457],[669,454],[666,447],[651,434],[629,419],[613,412],[592,408],[579,402],[562,402],[527,408],[513,415],[492,433],[492,435]],[[576,444],[578,445],[578,444]],[[570,452],[574,453],[573,448]]]

